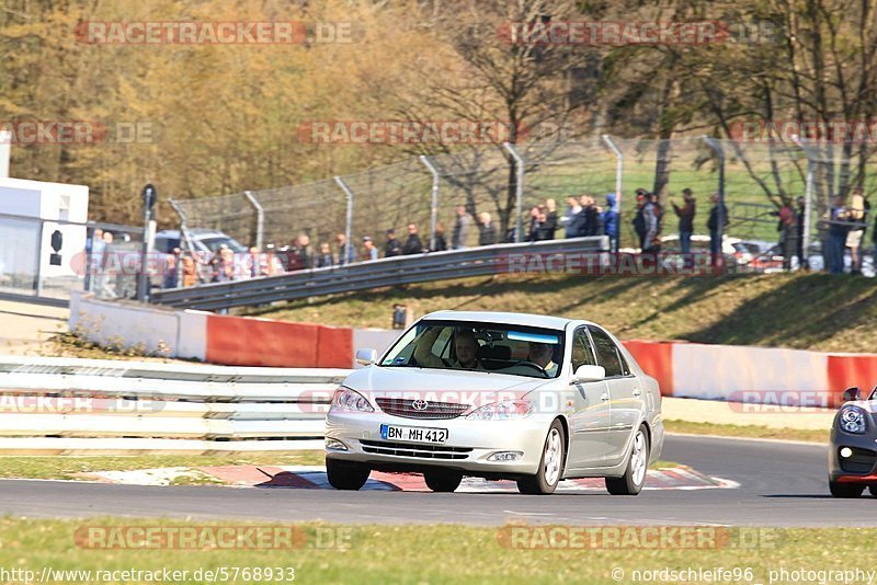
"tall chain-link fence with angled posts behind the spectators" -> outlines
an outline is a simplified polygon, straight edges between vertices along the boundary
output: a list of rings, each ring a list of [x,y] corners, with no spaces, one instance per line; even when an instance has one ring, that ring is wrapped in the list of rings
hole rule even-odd
[[[867,196],[875,186],[874,177],[863,174],[866,165],[861,159],[861,153],[854,161],[848,149],[831,145],[603,136],[584,141],[463,146],[451,153],[412,157],[315,183],[174,205],[189,229],[223,231],[247,245],[277,248],[307,234],[315,250],[327,243],[337,254],[339,234],[351,238],[357,250],[366,236],[381,248],[386,230],[396,230],[403,241],[409,223],[417,225],[424,245],[432,248],[436,236],[451,244],[458,206],[477,220],[480,214],[489,214],[498,242],[526,240],[537,213],[533,208],[543,206],[550,213],[554,207],[555,237],[563,238],[568,234],[565,218],[583,195],[601,210],[611,205],[611,196],[620,211],[619,245],[636,249],[635,192],[645,190],[659,197],[662,236],[672,249],[679,229],[674,207],[682,206],[682,191],[688,188],[695,203],[693,231],[702,240],[709,234],[707,220],[716,194],[727,209],[724,234],[728,240],[782,253],[782,245],[773,250],[771,245],[791,233],[783,225],[790,225],[783,211],[787,206],[794,216],[790,221],[800,225],[795,238],[812,244],[802,253],[819,254],[832,197],[845,196],[858,184]],[[476,245],[478,238],[474,227],[463,243]]]

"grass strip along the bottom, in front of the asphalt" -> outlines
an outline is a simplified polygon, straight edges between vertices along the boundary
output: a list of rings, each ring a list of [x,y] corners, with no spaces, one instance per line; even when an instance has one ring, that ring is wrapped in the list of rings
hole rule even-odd
[[[294,570],[296,583],[631,583],[635,571],[660,571],[664,569],[692,571],[715,571],[725,567],[740,575],[724,581],[738,583],[768,583],[771,571],[786,569],[812,571],[843,571],[855,569],[855,559],[868,549],[868,542],[877,538],[877,529],[857,529],[856,538],[850,538],[843,528],[796,528],[796,529],[730,529],[731,538],[725,540],[710,538],[698,540],[706,548],[683,549],[642,548],[633,541],[622,539],[620,544],[603,549],[577,546],[579,542],[566,537],[555,539],[557,548],[531,548],[545,542],[540,536],[549,534],[583,534],[579,528],[560,527],[559,532],[549,532],[545,527],[467,527],[454,525],[440,526],[340,526],[329,524],[300,524],[293,529],[294,548],[263,550],[230,550],[214,546],[170,550],[161,548],[104,549],[83,548],[83,544],[101,544],[113,541],[107,535],[126,535],[127,527],[192,527],[202,530],[201,535],[213,534],[206,526],[238,526],[242,530],[254,526],[252,523],[192,523],[181,520],[143,520],[132,518],[90,518],[79,520],[0,520],[0,563],[11,569],[34,571],[36,581],[43,567],[55,571],[91,571],[90,575],[80,573],[76,577],[49,573],[52,582],[106,582],[123,581],[122,571],[185,571],[182,582],[208,583],[205,571],[249,572],[249,578],[238,575],[241,582],[264,581],[267,573],[261,570],[262,578],[255,578],[255,567],[271,567],[281,571],[285,578],[273,577],[273,583],[288,582]],[[280,525],[275,525],[280,526]],[[286,525],[287,527],[289,525]],[[88,536],[88,527],[101,527],[99,538]],[[517,532],[512,530],[517,529]],[[100,531],[102,530],[102,531]],[[116,530],[116,532],[113,532]],[[617,532],[617,527],[607,528]],[[691,529],[695,530],[695,529]],[[720,528],[697,528],[697,534],[709,535]],[[754,532],[758,538],[738,538],[743,530]],[[627,530],[625,535],[636,537],[637,532]],[[514,539],[513,535],[526,535]],[[511,538],[510,538],[511,536]],[[872,538],[875,537],[875,538]],[[122,537],[118,542],[126,542]],[[104,540],[102,540],[104,539]],[[133,537],[132,537],[132,540]],[[635,539],[636,540],[636,539]],[[681,540],[681,539],[680,539]],[[740,550],[738,542],[745,540],[747,550]],[[143,539],[140,539],[143,541]],[[581,539],[581,542],[589,540]],[[597,540],[599,541],[599,540]],[[204,541],[202,541],[204,542]],[[615,540],[618,543],[618,540]],[[709,547],[713,542],[715,546]],[[703,546],[703,544],[702,544]],[[853,561],[851,561],[853,559]],[[863,570],[867,562],[859,563]],[[236,569],[237,567],[237,569]],[[751,573],[743,573],[744,571]],[[95,572],[118,572],[113,578],[110,574]],[[197,578],[197,572],[201,578]],[[696,574],[696,573],[695,573]],[[182,576],[182,575],[181,575]],[[105,578],[110,577],[110,578]],[[139,578],[138,578],[139,577]],[[19,581],[19,580],[15,580]],[[21,581],[24,581],[22,578]],[[144,574],[129,574],[129,582],[147,582]],[[161,580],[158,580],[161,581]],[[178,582],[180,582],[178,581]],[[228,578],[221,582],[230,582]],[[640,577],[642,581],[642,577]],[[653,580],[654,582],[676,582],[676,580]],[[699,578],[686,582],[704,583]],[[715,581],[715,576],[711,580]],[[164,581],[167,582],[167,581]],[[796,583],[794,580],[773,583]]]

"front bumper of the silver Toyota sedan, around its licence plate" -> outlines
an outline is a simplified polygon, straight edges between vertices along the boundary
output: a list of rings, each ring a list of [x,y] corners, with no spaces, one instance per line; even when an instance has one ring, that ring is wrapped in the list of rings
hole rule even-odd
[[[488,479],[532,475],[542,461],[549,417],[516,421],[467,421],[464,417],[418,420],[383,412],[330,412],[326,438],[343,443],[348,450],[327,449],[326,457],[354,461],[381,471],[428,471],[437,468]],[[447,428],[443,445],[385,440],[380,425]],[[488,461],[498,451],[521,451],[515,461]]]

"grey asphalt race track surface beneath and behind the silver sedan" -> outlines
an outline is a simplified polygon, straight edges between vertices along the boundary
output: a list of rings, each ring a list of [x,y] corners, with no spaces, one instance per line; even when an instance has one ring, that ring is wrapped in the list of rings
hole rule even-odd
[[[823,445],[669,436],[661,458],[740,487],[620,497],[602,491],[525,496],[2,480],[0,514],[354,524],[877,526],[877,498],[867,491],[859,500],[829,495]]]

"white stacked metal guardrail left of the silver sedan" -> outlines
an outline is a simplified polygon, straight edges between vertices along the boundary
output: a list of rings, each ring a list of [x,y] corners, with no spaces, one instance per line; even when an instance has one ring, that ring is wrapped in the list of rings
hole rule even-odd
[[[0,452],[321,449],[343,369],[0,356]]]

